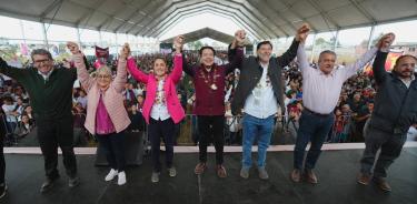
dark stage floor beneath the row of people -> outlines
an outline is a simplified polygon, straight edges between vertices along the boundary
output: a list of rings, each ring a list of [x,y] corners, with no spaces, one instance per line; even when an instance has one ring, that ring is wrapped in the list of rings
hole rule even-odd
[[[393,192],[384,193],[375,185],[356,183],[359,159],[363,150],[325,151],[317,164],[317,185],[292,183],[289,173],[292,152],[268,152],[268,181],[258,178],[252,167],[250,178],[239,176],[241,153],[226,153],[227,178],[218,178],[212,153],[209,169],[201,176],[193,174],[198,153],[176,153],[177,177],[169,177],[163,169],[160,182],[150,182],[150,159],[140,166],[129,166],[128,183],[118,186],[105,182],[108,167],[93,166],[95,155],[78,155],[81,184],[68,187],[68,178],[60,157],[61,177],[53,190],[39,193],[43,182],[43,160],[37,154],[6,154],[6,180],[9,192],[0,203],[58,204],[58,203],[103,203],[103,204],[415,204],[417,203],[417,147],[404,149],[401,156],[389,170],[388,182]],[[163,161],[163,157],[162,160]]]

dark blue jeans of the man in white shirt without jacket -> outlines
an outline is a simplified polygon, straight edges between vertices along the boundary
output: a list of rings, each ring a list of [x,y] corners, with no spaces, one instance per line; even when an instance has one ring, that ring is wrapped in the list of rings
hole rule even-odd
[[[305,169],[312,170],[321,153],[322,143],[335,122],[335,115],[319,115],[304,110],[299,120],[296,146],[294,150],[294,167],[302,170],[305,151],[308,142],[311,141],[310,150],[307,153]]]

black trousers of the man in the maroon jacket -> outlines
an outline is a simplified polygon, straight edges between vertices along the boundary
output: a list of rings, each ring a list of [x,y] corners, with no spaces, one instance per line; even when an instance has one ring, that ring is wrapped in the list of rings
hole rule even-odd
[[[210,141],[214,141],[216,149],[216,163],[224,163],[224,146],[225,146],[225,135],[224,135],[224,115],[198,115],[198,131],[199,131],[199,150],[200,150],[200,162],[207,162],[207,145]]]

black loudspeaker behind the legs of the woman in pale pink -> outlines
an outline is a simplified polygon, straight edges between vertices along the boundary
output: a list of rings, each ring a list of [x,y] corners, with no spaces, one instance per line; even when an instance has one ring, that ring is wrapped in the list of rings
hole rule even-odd
[[[127,165],[140,165],[143,162],[143,132],[125,132],[125,156]],[[96,151],[97,166],[109,165],[100,143]]]

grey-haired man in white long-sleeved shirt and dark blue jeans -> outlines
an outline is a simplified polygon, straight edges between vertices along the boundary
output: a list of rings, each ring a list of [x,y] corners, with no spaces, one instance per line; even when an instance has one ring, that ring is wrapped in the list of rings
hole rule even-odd
[[[384,37],[381,38],[381,40]],[[301,173],[306,181],[312,184],[318,183],[312,169],[321,153],[322,143],[331,130],[335,122],[332,113],[340,95],[341,85],[350,76],[355,75],[358,70],[363,69],[377,53],[381,40],[377,48],[368,50],[355,63],[335,69],[336,53],[326,50],[322,51],[318,60],[318,69],[310,67],[307,60],[304,44],[300,44],[297,53],[297,61],[302,73],[302,103],[304,110],[299,121],[296,146],[294,150],[294,171],[291,180],[299,182]],[[389,44],[385,44],[388,45]],[[386,49],[384,47],[384,49]],[[305,165],[305,150],[311,142]]]

